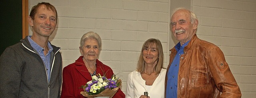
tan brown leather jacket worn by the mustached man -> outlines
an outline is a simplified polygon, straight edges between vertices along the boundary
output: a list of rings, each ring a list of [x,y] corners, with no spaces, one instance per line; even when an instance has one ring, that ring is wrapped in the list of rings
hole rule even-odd
[[[165,90],[170,89],[166,88],[167,75],[177,53],[175,48],[170,51]],[[200,40],[196,34],[180,57],[177,93],[178,98],[241,98],[242,96],[223,52],[218,46]]]

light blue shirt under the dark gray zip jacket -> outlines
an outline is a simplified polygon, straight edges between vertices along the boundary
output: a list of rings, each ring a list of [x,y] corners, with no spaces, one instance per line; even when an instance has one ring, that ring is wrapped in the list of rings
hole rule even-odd
[[[38,53],[38,55],[41,57],[42,61],[44,62],[44,66],[46,68],[47,71],[47,75],[48,75],[48,82],[50,82],[50,74],[51,74],[51,52],[53,50],[50,42],[47,43],[48,46],[48,53],[46,54],[46,56],[44,56],[44,48],[42,48],[41,46],[39,46],[38,44],[36,44],[36,42],[34,42],[34,40],[31,39],[32,36],[28,36],[28,41],[31,44],[31,46],[34,48],[34,50],[36,50],[36,52]]]

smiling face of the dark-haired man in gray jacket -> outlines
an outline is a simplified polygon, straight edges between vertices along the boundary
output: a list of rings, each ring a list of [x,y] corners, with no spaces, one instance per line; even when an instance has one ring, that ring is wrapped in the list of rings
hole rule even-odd
[[[33,36],[50,37],[56,27],[56,12],[39,6],[34,19],[28,16],[28,23],[33,27]]]

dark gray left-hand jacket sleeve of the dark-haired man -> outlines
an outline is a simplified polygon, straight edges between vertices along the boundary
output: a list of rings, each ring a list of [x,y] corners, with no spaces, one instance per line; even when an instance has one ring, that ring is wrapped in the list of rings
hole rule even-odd
[[[0,57],[1,98],[18,98],[22,59],[12,48],[6,48]]]

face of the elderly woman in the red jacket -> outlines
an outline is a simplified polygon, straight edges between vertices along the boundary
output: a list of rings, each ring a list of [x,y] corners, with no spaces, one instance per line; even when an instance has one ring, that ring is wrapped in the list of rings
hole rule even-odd
[[[99,55],[98,41],[94,38],[89,38],[84,42],[83,47],[79,47],[82,56],[86,61],[94,61]]]

